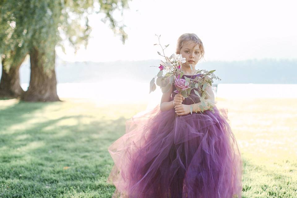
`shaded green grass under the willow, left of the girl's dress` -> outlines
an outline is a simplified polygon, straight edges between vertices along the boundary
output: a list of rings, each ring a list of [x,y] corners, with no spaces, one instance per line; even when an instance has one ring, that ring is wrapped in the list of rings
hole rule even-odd
[[[0,133],[46,105],[20,102],[3,110],[7,119],[1,120]],[[125,133],[126,119],[81,121],[88,117],[63,116],[2,134],[0,197],[111,197],[115,187],[105,183],[113,165],[107,147]],[[75,125],[59,124],[67,119]]]

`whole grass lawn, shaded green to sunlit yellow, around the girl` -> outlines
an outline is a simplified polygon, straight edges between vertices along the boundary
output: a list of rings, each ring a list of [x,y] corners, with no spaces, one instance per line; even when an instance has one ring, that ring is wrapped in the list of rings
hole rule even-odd
[[[242,154],[243,198],[297,197],[296,99],[217,101],[228,108]],[[85,99],[0,100],[0,198],[110,198],[107,147],[145,108]]]

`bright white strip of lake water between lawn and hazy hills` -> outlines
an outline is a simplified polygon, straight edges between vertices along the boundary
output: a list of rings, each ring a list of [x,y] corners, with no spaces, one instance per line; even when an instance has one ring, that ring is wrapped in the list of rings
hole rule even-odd
[[[28,84],[21,87],[27,90]],[[223,98],[296,98],[297,84],[217,84],[213,85],[215,97]],[[58,83],[60,98],[89,98],[104,104],[149,103],[161,101],[161,89],[149,94],[149,83],[124,80],[118,86],[106,81],[97,83]]]

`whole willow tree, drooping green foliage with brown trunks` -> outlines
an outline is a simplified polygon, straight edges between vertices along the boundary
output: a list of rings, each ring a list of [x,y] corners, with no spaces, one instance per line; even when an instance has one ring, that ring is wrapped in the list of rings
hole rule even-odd
[[[24,101],[59,101],[55,47],[63,49],[67,41],[76,52],[80,45],[86,46],[91,32],[88,15],[94,12],[105,14],[101,21],[109,21],[110,28],[115,35],[121,36],[124,44],[127,39],[123,30],[125,25],[118,24],[113,12],[120,11],[123,15],[126,8],[128,0],[0,1],[0,25],[5,27],[0,30],[0,54],[5,70],[0,92],[6,89],[15,95],[20,93]],[[17,52],[21,55],[16,56]],[[30,55],[31,75],[28,90],[22,92],[16,84],[19,84],[18,69],[26,54]],[[13,81],[13,85],[8,81]]]

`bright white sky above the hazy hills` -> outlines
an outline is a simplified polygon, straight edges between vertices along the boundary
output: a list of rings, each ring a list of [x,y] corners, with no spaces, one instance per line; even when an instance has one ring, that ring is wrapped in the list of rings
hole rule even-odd
[[[205,60],[253,58],[297,58],[297,2],[275,0],[133,0],[124,11],[128,39],[115,37],[99,15],[90,17],[93,28],[89,45],[75,56],[57,48],[66,61],[117,61],[161,59],[161,45],[170,44],[165,54],[175,52],[183,33],[196,33],[205,49]]]

